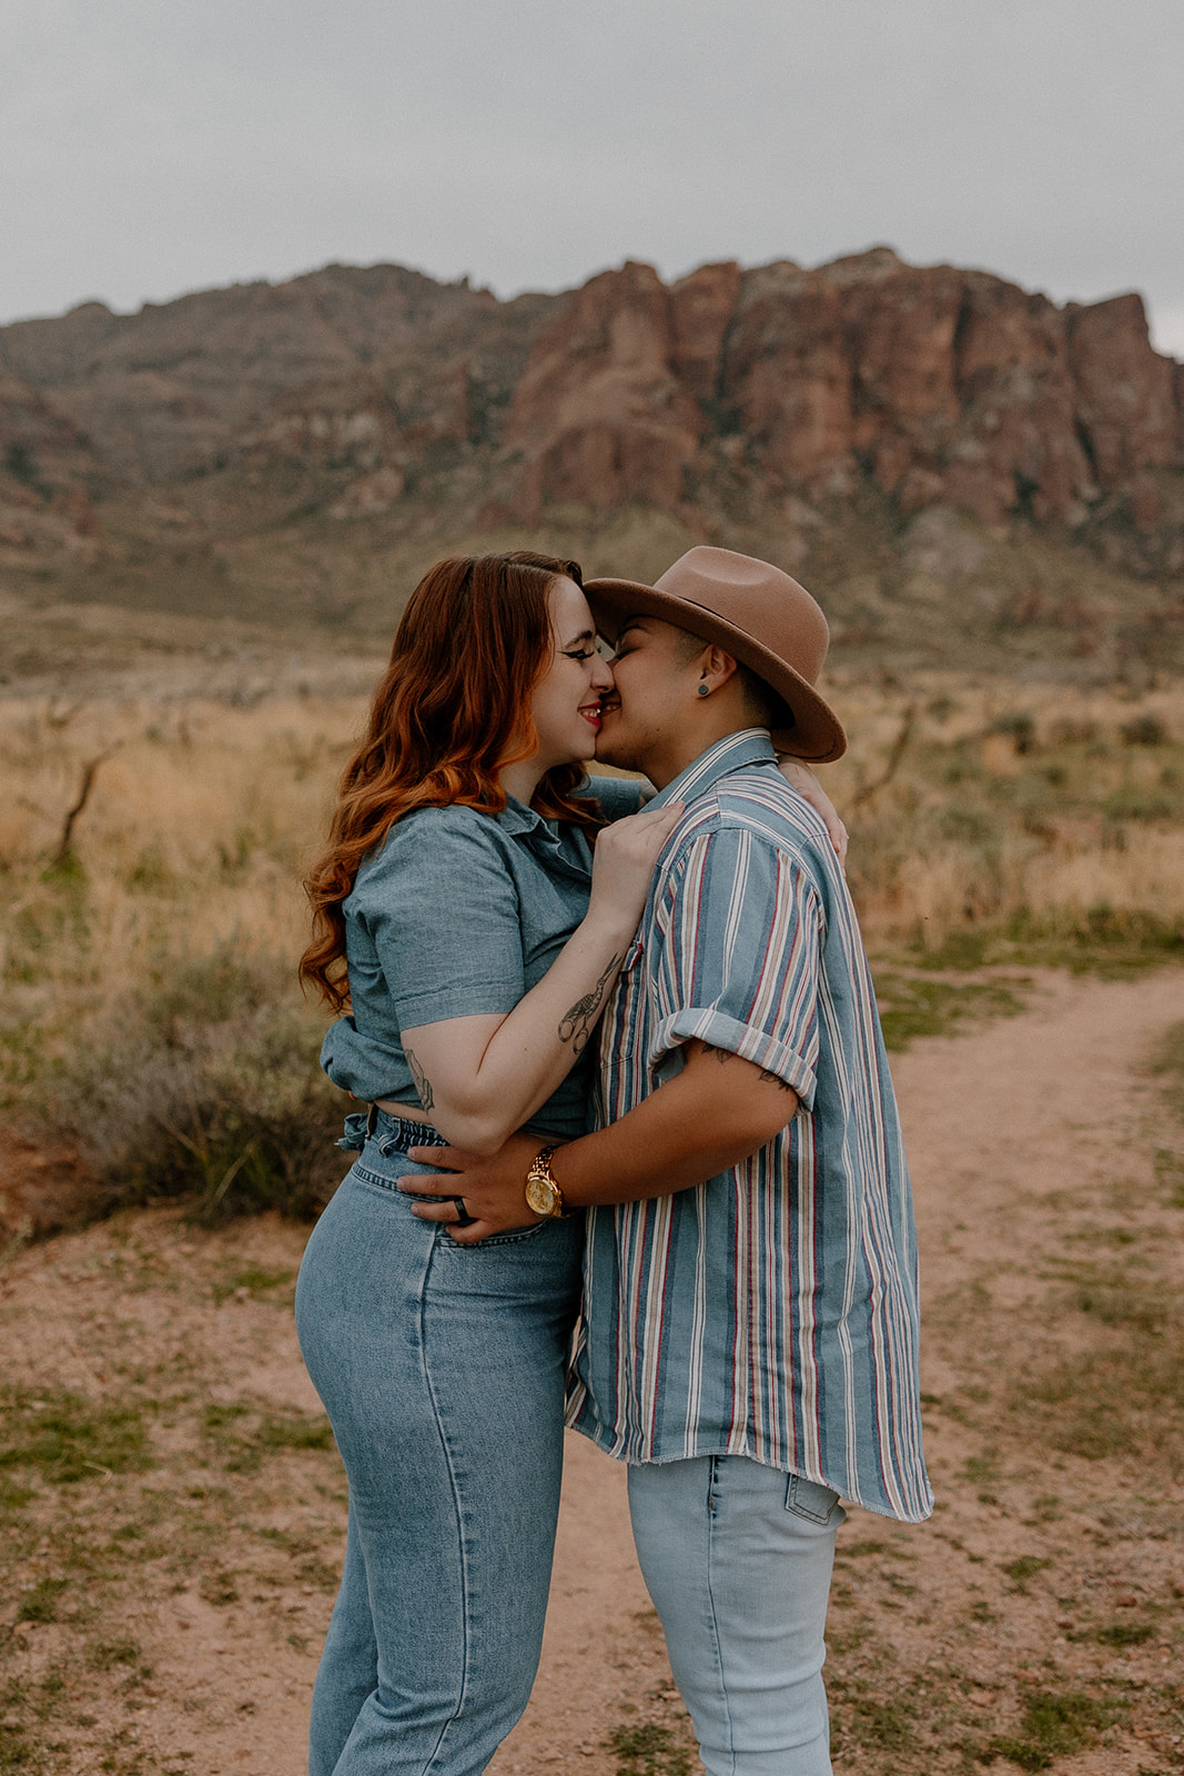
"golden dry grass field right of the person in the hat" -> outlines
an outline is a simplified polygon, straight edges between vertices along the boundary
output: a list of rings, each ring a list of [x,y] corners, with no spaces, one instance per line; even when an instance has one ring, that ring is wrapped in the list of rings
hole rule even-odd
[[[1184,693],[930,680],[840,693],[870,945],[1184,931]],[[882,781],[902,733],[896,769]],[[879,785],[879,787],[877,787]]]

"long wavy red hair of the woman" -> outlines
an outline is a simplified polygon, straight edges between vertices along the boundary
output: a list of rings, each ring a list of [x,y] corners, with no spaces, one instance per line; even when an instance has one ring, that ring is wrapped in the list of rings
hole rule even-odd
[[[343,902],[366,852],[412,808],[501,813],[497,773],[538,749],[531,691],[552,655],[547,597],[564,577],[584,584],[577,561],[524,549],[437,561],[415,586],[341,778],[328,847],[304,884],[312,941],[300,980],[334,1011],[350,1002]],[[572,794],[582,776],[579,764],[549,771],[531,806],[595,829],[596,803]]]

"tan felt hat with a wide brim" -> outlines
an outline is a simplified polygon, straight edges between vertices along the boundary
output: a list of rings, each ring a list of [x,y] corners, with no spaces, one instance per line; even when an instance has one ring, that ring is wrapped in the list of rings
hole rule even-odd
[[[596,629],[616,645],[630,616],[715,641],[749,666],[788,705],[793,725],[774,732],[781,751],[827,764],[847,751],[843,725],[815,691],[831,630],[815,599],[769,561],[699,545],[680,556],[653,586],[632,579],[584,584]]]

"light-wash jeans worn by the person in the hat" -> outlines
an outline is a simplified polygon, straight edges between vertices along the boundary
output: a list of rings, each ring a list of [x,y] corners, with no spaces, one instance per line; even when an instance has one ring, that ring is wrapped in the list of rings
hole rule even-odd
[[[838,1495],[747,1456],[630,1467],[637,1559],[708,1776],[831,1776]]]

